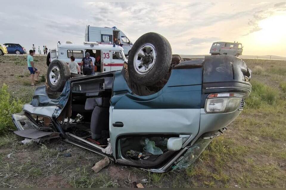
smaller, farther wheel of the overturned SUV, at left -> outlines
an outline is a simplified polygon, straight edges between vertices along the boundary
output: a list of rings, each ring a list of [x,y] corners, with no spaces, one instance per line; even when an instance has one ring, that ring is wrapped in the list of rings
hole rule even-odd
[[[66,81],[71,78],[69,66],[60,60],[53,60],[47,71],[47,82],[53,92],[61,92]]]

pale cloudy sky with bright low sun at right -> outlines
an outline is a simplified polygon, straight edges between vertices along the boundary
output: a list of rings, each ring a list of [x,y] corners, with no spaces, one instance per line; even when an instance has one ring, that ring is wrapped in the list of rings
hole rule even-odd
[[[2,1],[0,18],[0,43],[26,50],[82,43],[90,25],[116,26],[133,43],[157,32],[173,54],[209,54],[215,41],[238,41],[243,55],[286,56],[286,2]]]

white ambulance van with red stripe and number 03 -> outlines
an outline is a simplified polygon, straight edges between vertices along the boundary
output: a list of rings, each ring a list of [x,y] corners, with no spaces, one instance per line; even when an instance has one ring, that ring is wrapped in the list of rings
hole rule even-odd
[[[91,57],[99,60],[95,68],[95,73],[121,70],[124,61],[126,61],[123,48],[119,45],[97,42],[72,43],[67,41],[66,43],[58,42],[57,50],[50,50],[51,62],[57,59],[69,63],[71,62],[70,57],[74,56],[75,62],[81,65],[81,61],[86,52],[88,52]]]

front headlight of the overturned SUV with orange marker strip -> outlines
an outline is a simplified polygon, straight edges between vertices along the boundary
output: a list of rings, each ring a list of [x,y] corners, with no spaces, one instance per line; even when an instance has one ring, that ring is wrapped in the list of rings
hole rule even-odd
[[[227,113],[239,109],[243,93],[216,93],[210,94],[206,99],[205,111],[207,113]]]

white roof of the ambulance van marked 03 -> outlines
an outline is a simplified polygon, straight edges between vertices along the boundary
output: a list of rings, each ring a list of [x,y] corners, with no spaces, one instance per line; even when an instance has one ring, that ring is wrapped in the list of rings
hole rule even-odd
[[[93,45],[93,47],[91,47]],[[91,43],[61,43],[58,48],[71,48],[71,49],[94,49],[94,50],[118,50],[123,51],[123,48],[119,45],[113,44],[94,44]]]

